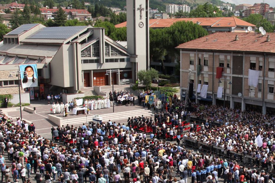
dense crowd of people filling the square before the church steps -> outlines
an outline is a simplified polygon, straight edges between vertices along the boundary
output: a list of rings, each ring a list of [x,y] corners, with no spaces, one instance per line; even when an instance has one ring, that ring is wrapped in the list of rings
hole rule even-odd
[[[26,128],[21,119],[14,123],[1,115],[0,149],[9,157],[8,162],[0,156],[2,182],[4,178],[6,182],[19,178],[30,182],[26,175],[31,174],[37,183],[43,179],[47,183],[186,183],[187,177],[192,183],[218,183],[221,177],[224,183],[275,182],[270,174],[274,169],[274,115],[202,104],[193,107],[189,112],[183,101],[173,99],[172,105],[154,117],[129,117],[125,124],[109,120],[52,127],[52,139],[36,134],[34,127]],[[189,122],[190,130],[184,131],[189,116],[207,122]],[[213,126],[214,121],[222,125]],[[255,143],[258,135],[261,147]],[[254,156],[257,169],[240,165],[234,157],[192,151],[181,144],[182,138]]]

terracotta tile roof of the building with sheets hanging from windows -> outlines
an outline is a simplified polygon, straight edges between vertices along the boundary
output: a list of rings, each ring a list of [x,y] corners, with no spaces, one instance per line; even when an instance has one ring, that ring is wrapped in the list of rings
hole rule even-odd
[[[235,41],[238,35],[238,40]],[[267,36],[270,41],[267,42]],[[213,51],[248,51],[275,53],[275,33],[234,33],[217,32],[186,43],[180,44],[177,49],[198,49]]]

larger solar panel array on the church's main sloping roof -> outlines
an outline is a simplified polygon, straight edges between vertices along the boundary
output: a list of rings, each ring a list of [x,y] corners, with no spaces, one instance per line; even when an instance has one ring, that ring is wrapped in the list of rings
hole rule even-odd
[[[67,39],[86,26],[44,27],[27,39]]]

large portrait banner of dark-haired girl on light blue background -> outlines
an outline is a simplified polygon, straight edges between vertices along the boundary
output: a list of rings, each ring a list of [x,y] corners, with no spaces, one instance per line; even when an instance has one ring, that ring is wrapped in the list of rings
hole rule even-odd
[[[19,68],[21,74],[22,88],[38,86],[36,64],[20,65]]]

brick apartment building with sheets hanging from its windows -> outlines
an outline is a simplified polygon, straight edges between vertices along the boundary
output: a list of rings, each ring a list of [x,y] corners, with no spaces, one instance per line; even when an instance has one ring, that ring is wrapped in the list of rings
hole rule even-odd
[[[180,49],[181,97],[185,98],[187,79],[191,69],[194,95],[191,100],[209,104],[223,104],[230,108],[251,107],[266,112],[275,111],[275,33],[265,36],[259,33],[217,32],[177,46]],[[253,80],[257,86],[249,86],[250,71],[258,71]],[[221,81],[221,83],[219,82]],[[229,84],[229,81],[231,82]],[[202,98],[198,84],[208,85],[207,96]],[[218,87],[225,94],[218,98]],[[223,88],[224,89],[224,88]]]

